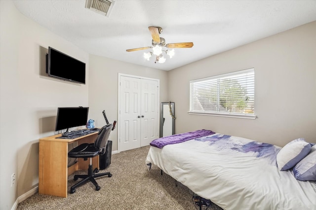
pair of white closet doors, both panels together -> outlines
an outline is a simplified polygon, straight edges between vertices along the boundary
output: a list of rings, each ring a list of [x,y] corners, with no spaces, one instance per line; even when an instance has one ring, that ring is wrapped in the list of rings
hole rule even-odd
[[[149,145],[157,139],[158,81],[120,76],[119,151]]]

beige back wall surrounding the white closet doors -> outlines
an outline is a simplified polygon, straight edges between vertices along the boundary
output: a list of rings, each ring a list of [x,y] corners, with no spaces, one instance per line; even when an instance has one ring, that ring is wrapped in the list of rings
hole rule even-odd
[[[159,65],[159,64],[158,64]],[[90,55],[89,58],[89,116],[101,127],[105,110],[110,122],[118,121],[118,73],[159,79],[160,102],[167,99],[167,71],[134,65],[118,60]],[[159,109],[160,110],[160,109]],[[117,127],[118,128],[118,127]],[[118,150],[118,129],[111,132],[112,151]]]

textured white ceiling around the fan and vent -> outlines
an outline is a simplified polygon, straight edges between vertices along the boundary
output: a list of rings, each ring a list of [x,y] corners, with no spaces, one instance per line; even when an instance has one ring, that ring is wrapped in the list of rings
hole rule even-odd
[[[89,54],[171,70],[316,20],[316,0],[116,0],[109,17],[86,9],[85,0],[14,0],[41,26]],[[175,49],[165,63],[145,60],[152,46],[149,26],[163,29]],[[51,46],[54,47],[54,46]]]

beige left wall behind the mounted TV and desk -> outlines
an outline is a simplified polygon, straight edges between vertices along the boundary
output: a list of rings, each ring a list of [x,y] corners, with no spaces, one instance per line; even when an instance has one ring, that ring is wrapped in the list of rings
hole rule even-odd
[[[26,18],[12,1],[0,1],[0,27],[0,209],[10,210],[38,186],[39,139],[55,133],[57,107],[88,106],[89,81],[78,85],[45,75],[48,46],[87,66],[89,55]]]

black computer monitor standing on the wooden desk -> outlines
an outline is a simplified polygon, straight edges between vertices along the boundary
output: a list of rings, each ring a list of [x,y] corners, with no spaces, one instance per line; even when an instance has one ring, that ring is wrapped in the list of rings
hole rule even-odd
[[[59,107],[55,131],[86,125],[88,112],[89,107]]]

